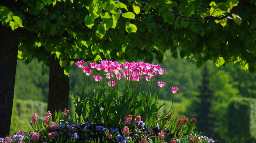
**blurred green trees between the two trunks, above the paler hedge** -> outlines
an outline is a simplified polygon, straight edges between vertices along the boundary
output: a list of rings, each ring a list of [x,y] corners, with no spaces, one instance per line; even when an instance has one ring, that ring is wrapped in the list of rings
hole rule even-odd
[[[48,69],[44,69],[44,66],[35,60],[29,65],[26,65],[25,61],[18,61],[16,69],[15,98],[47,102],[49,88]],[[45,76],[42,77],[42,74],[45,74]]]

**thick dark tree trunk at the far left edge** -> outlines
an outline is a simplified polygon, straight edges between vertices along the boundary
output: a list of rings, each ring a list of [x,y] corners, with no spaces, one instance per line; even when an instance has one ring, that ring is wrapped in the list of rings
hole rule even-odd
[[[20,7],[14,0],[0,0],[0,5]],[[9,135],[11,127],[19,31],[0,24],[0,138]]]

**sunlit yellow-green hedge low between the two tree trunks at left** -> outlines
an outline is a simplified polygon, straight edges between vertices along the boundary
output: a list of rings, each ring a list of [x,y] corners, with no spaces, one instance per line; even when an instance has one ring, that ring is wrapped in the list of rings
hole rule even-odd
[[[12,109],[12,120],[10,134],[14,135],[19,130],[31,131],[31,116],[37,113],[39,118],[44,118],[47,110],[47,103],[35,100],[15,99]]]

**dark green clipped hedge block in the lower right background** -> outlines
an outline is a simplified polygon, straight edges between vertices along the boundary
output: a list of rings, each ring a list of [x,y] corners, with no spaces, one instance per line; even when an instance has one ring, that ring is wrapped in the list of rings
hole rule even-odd
[[[255,105],[256,100],[253,98],[234,98],[230,101],[226,112],[228,130],[225,135],[226,140],[232,142],[255,140]],[[236,128],[233,128],[234,126]]]

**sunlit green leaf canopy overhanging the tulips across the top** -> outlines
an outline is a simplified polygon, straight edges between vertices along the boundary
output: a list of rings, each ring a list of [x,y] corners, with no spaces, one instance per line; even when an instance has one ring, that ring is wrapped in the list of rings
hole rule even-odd
[[[74,59],[163,61],[173,57],[200,67],[239,63],[255,71],[255,0],[23,0],[20,9],[0,6],[2,24],[21,28],[18,57],[49,54],[65,74]],[[47,62],[45,62],[47,65]]]

